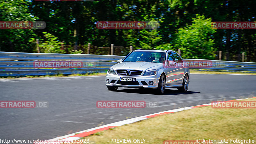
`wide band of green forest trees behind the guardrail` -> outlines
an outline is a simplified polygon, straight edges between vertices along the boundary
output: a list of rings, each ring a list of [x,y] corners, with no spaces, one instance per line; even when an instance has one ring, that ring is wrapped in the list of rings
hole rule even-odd
[[[45,40],[43,32],[46,32],[58,38],[55,42],[65,41],[71,49],[74,45],[88,43],[98,47],[133,46],[134,49],[181,48],[184,58],[203,59],[216,59],[213,53],[218,50],[223,54],[245,52],[251,55],[251,59],[245,60],[256,61],[254,30],[218,29],[213,32],[209,29],[210,21],[256,21],[255,5],[255,0],[0,0],[1,21],[46,22],[45,29],[1,29],[0,51],[36,52],[33,40],[40,39],[41,44]],[[205,19],[199,15],[204,15]],[[97,21],[150,21],[159,25],[153,29],[98,29]],[[62,53],[58,52],[58,43],[50,43],[49,50],[45,46],[42,50]],[[106,54],[106,51],[98,48],[92,53]],[[227,60],[233,58],[226,57]]]

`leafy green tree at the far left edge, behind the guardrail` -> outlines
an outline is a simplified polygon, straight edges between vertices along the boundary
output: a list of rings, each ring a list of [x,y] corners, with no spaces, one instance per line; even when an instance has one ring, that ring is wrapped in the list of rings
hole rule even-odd
[[[35,21],[37,17],[28,12],[28,1],[0,0],[1,21]],[[32,29],[0,29],[0,51],[34,52],[30,38],[36,37]]]

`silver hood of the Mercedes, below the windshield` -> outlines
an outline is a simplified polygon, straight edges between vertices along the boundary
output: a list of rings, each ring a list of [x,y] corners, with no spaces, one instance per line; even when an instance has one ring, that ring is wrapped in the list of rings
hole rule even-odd
[[[134,69],[134,70],[151,70],[151,69],[160,69],[163,68],[164,64],[162,63],[153,63],[153,62],[120,62],[115,64],[111,68],[114,70],[117,69]]]

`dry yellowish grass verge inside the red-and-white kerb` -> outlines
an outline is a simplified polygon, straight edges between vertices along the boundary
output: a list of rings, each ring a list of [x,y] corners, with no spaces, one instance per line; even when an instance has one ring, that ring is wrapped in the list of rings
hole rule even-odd
[[[208,106],[156,116],[84,138],[100,144],[109,144],[111,139],[146,139],[148,144],[162,144],[164,140],[256,140],[255,118],[256,109]]]

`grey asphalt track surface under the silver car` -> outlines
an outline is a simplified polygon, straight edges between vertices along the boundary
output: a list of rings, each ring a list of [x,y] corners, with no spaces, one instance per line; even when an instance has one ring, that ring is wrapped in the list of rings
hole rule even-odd
[[[190,74],[187,93],[107,90],[105,76],[0,80],[0,100],[48,101],[48,108],[0,108],[0,139],[47,140],[136,116],[256,96],[255,75]],[[97,108],[98,100],[144,100],[151,108]],[[96,141],[97,143],[97,141]]]

